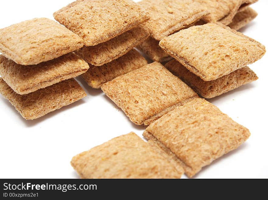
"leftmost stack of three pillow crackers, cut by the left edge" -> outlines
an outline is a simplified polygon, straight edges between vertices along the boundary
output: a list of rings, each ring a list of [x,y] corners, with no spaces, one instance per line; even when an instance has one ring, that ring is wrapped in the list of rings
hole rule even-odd
[[[0,93],[25,119],[36,119],[86,96],[72,79],[89,65],[75,51],[83,40],[47,18],[0,30]]]

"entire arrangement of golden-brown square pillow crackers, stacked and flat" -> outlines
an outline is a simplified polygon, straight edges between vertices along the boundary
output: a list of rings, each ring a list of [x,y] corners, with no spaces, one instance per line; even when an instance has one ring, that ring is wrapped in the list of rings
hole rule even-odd
[[[77,0],[54,13],[66,28],[42,18],[0,30],[0,92],[34,119],[85,96],[71,79],[81,75],[149,126],[148,142],[130,132],[74,156],[80,177],[193,177],[250,136],[199,95],[258,79],[247,65],[265,47],[236,31],[256,17],[254,2]]]

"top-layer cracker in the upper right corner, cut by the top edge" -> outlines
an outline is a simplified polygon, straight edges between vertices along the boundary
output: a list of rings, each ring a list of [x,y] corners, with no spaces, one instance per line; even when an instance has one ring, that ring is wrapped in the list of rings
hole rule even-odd
[[[258,0],[198,0],[206,6],[209,14],[202,19],[206,22],[217,22],[227,25],[232,22],[238,11],[244,10],[248,5]]]

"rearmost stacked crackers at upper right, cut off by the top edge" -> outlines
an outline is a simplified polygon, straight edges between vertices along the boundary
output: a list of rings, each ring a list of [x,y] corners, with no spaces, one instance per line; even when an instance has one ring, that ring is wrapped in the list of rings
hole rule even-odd
[[[153,61],[169,61],[172,58],[158,45],[163,37],[208,22],[221,22],[238,30],[257,16],[249,7],[255,2],[257,0],[142,0],[138,4],[149,12],[150,20],[145,26],[150,30],[150,37],[138,49]]]

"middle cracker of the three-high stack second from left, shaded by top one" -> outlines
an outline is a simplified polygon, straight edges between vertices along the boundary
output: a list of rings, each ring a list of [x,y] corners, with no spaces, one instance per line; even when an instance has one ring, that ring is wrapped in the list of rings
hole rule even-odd
[[[140,25],[107,42],[91,47],[84,46],[76,54],[91,65],[101,66],[126,54],[149,35],[147,29]]]

